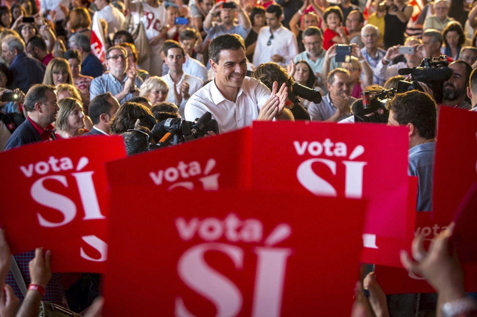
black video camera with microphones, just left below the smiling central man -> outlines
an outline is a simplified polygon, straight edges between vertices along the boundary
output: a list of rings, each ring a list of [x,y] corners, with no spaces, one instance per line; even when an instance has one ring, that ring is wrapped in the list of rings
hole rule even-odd
[[[202,138],[209,131],[218,134],[217,121],[212,119],[210,112],[204,113],[194,122],[180,118],[169,118],[156,123],[152,116],[141,116],[135,127],[145,126],[151,130],[148,134],[148,150],[156,150],[168,145],[176,145]]]

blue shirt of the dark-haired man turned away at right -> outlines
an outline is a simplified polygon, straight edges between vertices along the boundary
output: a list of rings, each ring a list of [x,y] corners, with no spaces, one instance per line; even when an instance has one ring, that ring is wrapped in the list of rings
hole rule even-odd
[[[432,181],[435,142],[418,144],[409,149],[409,176],[418,177],[417,211],[432,210]]]

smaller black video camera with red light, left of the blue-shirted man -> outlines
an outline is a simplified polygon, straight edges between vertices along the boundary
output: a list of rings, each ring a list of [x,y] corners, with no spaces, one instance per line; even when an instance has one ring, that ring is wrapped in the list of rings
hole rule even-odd
[[[364,91],[361,99],[357,99],[351,105],[354,122],[387,123],[389,110],[385,103],[396,94],[396,90],[383,89],[381,92]]]

